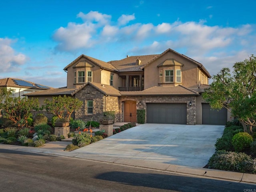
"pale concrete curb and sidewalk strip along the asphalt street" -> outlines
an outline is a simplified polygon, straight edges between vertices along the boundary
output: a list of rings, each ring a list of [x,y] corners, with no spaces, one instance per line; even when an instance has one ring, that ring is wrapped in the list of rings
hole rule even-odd
[[[93,154],[93,153],[51,150],[47,148],[34,148],[34,147],[26,147],[26,146],[0,144],[0,150],[1,149],[17,150],[17,151],[23,151],[23,152],[32,152],[32,153],[40,153],[40,154],[48,154],[48,155],[50,154],[55,156],[66,156],[66,157],[72,157],[72,158],[94,160],[98,162],[107,162],[112,164],[148,168],[153,170],[172,172],[176,174],[180,173],[180,174],[202,176],[207,178],[217,178],[217,179],[256,184],[256,174],[238,173],[238,172],[213,170],[213,169],[206,169],[206,168],[194,168],[194,167],[180,166],[180,165],[174,165],[174,164],[151,162],[151,161],[145,161],[145,160],[134,160],[129,158],[114,158],[110,156],[99,156],[98,154]]]

